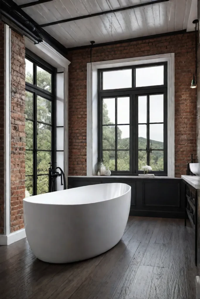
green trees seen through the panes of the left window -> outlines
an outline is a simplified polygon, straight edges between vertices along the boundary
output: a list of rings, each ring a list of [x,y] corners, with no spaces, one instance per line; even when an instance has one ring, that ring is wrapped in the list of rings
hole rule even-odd
[[[31,73],[26,74],[26,82],[32,83]],[[51,91],[51,74],[37,70],[37,86]],[[48,87],[49,86],[49,87]],[[25,152],[25,188],[26,196],[33,194],[33,94],[25,94],[25,121],[26,149]],[[51,101],[37,96],[37,120],[51,124]],[[48,174],[48,163],[51,161],[51,152],[42,152],[41,149],[51,150],[51,126],[37,123],[37,174]],[[48,192],[48,176],[37,177],[37,194]]]

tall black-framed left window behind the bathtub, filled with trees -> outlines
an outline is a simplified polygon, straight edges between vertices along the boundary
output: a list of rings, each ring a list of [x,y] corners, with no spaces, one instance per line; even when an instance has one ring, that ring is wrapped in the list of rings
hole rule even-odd
[[[55,162],[56,69],[27,49],[25,63],[25,188],[31,196],[48,192],[48,163]]]

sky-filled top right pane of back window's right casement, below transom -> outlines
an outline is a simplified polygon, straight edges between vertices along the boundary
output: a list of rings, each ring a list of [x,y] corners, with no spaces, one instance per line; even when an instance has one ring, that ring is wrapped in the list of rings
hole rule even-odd
[[[149,96],[150,123],[163,123],[163,94]]]

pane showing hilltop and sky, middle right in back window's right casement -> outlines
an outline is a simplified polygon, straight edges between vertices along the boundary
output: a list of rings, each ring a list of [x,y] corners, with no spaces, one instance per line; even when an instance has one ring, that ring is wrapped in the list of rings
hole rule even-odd
[[[150,124],[149,136],[151,149],[163,149],[163,124]]]

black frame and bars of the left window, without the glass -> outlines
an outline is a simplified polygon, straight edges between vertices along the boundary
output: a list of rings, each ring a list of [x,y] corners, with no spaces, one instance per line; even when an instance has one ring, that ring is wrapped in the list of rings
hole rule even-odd
[[[33,152],[33,175],[25,175],[33,178],[33,194],[37,195],[37,177],[48,176],[48,173],[37,174],[37,152],[51,152],[52,165],[56,161],[56,72],[57,69],[38,57],[36,54],[25,49],[25,59],[33,63],[33,84],[25,82],[25,90],[33,94],[33,119],[25,118],[33,122],[33,149],[26,149],[26,151]],[[51,76],[51,92],[37,86],[37,66],[49,72]],[[37,121],[37,95],[51,101],[51,124]],[[37,123],[51,126],[51,150],[37,149]]]

